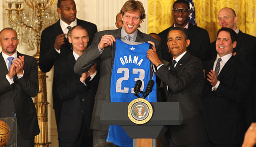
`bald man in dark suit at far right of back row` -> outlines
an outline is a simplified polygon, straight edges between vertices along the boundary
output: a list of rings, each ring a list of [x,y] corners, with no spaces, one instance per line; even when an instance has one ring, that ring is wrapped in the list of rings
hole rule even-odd
[[[233,49],[233,55],[252,67],[252,80],[254,81],[250,86],[252,97],[244,102],[244,119],[246,120],[246,128],[248,128],[256,120],[256,85],[254,84],[256,83],[256,37],[245,34],[238,29],[236,26],[238,17],[231,8],[222,8],[219,11],[218,19],[221,28],[227,27],[237,33],[237,45]],[[215,59],[217,55],[215,44],[216,41],[210,44],[211,59]]]

